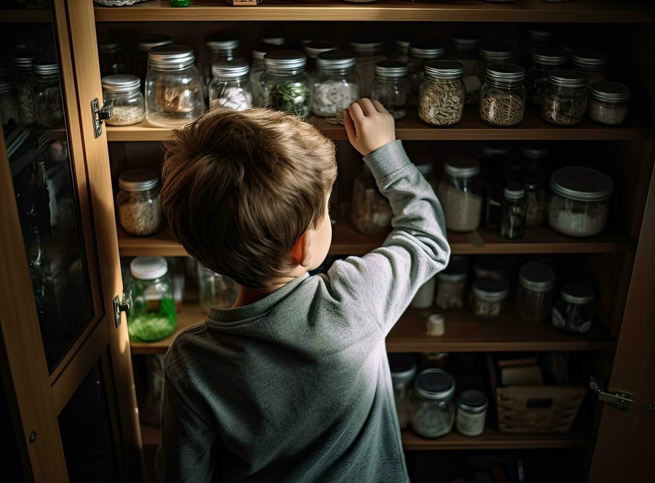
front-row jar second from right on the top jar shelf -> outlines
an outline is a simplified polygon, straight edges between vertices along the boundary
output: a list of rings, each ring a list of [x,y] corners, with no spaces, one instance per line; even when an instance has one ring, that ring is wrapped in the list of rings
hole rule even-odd
[[[573,126],[587,111],[587,78],[572,70],[548,75],[549,87],[541,101],[541,117],[559,126]]]

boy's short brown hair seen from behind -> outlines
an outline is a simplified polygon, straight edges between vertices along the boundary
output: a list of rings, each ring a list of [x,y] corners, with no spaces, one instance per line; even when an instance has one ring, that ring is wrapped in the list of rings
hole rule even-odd
[[[298,117],[214,109],[164,142],[160,193],[173,233],[202,265],[261,289],[322,222],[334,144]]]

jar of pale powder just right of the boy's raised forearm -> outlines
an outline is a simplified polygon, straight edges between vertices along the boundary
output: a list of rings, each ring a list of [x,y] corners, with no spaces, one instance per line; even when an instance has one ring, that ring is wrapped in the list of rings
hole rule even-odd
[[[477,159],[453,156],[443,163],[443,179],[438,185],[446,228],[473,231],[482,214],[480,163]]]

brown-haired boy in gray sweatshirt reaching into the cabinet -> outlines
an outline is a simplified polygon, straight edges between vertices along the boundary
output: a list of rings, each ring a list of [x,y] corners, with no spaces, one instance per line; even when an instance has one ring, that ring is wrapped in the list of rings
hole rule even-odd
[[[187,252],[239,284],[164,362],[167,482],[408,481],[384,337],[450,249],[394,119],[361,99],[350,143],[388,197],[381,248],[309,277],[331,240],[333,144],[267,109],[214,111],[166,142],[162,204]]]

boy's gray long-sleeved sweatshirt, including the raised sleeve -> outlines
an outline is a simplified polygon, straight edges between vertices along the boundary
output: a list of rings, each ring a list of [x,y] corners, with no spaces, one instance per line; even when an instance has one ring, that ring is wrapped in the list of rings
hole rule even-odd
[[[210,311],[164,360],[166,482],[406,482],[384,338],[450,248],[400,141],[364,158],[388,197],[381,248],[236,309]]]

